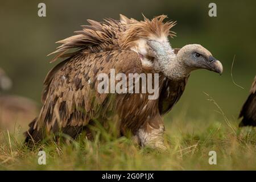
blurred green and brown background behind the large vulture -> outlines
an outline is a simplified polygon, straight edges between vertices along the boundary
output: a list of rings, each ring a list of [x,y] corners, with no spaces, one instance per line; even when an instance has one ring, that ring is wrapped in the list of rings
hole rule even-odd
[[[47,17],[38,16],[38,3],[46,3]],[[208,16],[210,2],[217,4],[217,17]],[[168,114],[184,113],[187,118],[222,117],[207,101],[208,93],[232,121],[237,117],[256,74],[255,1],[2,1],[0,6],[0,67],[13,79],[11,94],[32,98],[40,103],[43,80],[55,42],[80,30],[86,19],[118,19],[119,14],[142,19],[166,14],[177,20],[172,47],[199,43],[208,48],[224,65],[222,76],[201,70],[192,73],[181,100]],[[232,82],[230,69],[233,57]],[[40,104],[39,104],[40,105]],[[170,119],[167,117],[166,119]],[[207,121],[205,121],[207,122]]]

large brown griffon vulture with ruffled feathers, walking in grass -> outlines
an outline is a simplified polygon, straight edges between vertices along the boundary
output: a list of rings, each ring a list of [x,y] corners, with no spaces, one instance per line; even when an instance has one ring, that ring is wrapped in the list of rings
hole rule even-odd
[[[43,107],[30,123],[25,142],[38,142],[59,131],[76,138],[83,130],[90,138],[88,125],[96,119],[106,129],[114,125],[119,135],[132,134],[141,146],[166,148],[162,115],[181,97],[191,71],[222,73],[220,61],[199,44],[172,49],[168,36],[175,35],[170,31],[175,22],[164,23],[166,17],[88,20],[90,25],[82,26],[78,35],[59,41],[62,45],[53,52],[53,61],[66,59],[46,76]],[[109,75],[111,68],[126,75],[159,73],[159,97],[149,100],[148,92],[98,93],[98,74]]]

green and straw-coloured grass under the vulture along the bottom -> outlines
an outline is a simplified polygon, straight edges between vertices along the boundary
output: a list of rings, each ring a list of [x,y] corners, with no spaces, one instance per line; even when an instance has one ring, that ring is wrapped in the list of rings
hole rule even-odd
[[[166,118],[168,120],[168,118]],[[128,138],[98,132],[93,141],[82,135],[67,144],[49,142],[46,165],[38,164],[38,148],[24,147],[20,129],[0,134],[2,170],[237,170],[256,169],[256,130],[237,128],[238,121],[222,121],[214,115],[189,119],[184,113],[166,121],[166,152],[136,146]],[[104,137],[102,137],[104,136]],[[210,165],[209,151],[217,152],[217,165]]]

